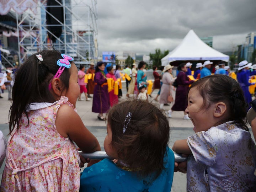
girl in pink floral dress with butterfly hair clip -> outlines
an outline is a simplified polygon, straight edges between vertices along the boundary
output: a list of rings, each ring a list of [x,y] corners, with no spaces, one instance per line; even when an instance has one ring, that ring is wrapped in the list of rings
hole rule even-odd
[[[0,191],[79,191],[80,158],[73,142],[85,153],[101,150],[76,113],[79,94],[78,70],[68,55],[43,50],[21,65]]]

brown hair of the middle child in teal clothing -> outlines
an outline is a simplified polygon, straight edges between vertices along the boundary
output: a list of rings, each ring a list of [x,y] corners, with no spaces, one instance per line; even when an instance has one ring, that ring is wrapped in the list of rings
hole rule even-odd
[[[132,113],[123,133],[125,119]],[[108,111],[108,126],[112,131],[111,145],[118,157],[131,168],[142,167],[135,173],[139,178],[153,174],[154,180],[164,169],[164,156],[169,140],[169,121],[165,114],[148,101],[128,100]]]

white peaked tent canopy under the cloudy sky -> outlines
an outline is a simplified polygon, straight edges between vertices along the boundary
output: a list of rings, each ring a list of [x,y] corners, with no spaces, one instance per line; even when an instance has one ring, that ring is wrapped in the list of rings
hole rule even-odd
[[[223,60],[229,61],[229,56],[218,52],[204,43],[193,30],[190,30],[182,42],[161,59],[162,66],[178,60]]]

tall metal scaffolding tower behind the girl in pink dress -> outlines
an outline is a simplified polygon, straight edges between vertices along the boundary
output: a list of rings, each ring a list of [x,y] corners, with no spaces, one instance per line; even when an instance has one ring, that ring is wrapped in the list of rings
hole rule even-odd
[[[78,64],[89,64],[98,57],[97,44],[97,0],[52,0],[57,5],[47,5],[48,0],[38,1],[34,9],[19,15],[16,12],[18,32],[18,56],[20,62],[43,49],[55,49],[74,57]],[[89,2],[90,1],[90,2]],[[63,20],[49,12],[51,7],[62,7]],[[54,24],[46,20],[46,15],[54,18]],[[56,36],[50,27],[61,27]],[[56,41],[52,41],[52,36]]]

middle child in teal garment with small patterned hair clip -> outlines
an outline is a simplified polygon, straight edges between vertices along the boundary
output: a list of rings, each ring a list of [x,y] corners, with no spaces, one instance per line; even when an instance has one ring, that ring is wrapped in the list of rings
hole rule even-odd
[[[167,146],[169,121],[152,103],[129,100],[108,111],[104,149],[112,159],[85,168],[80,191],[169,191],[174,153]],[[116,161],[115,161],[116,162]]]

